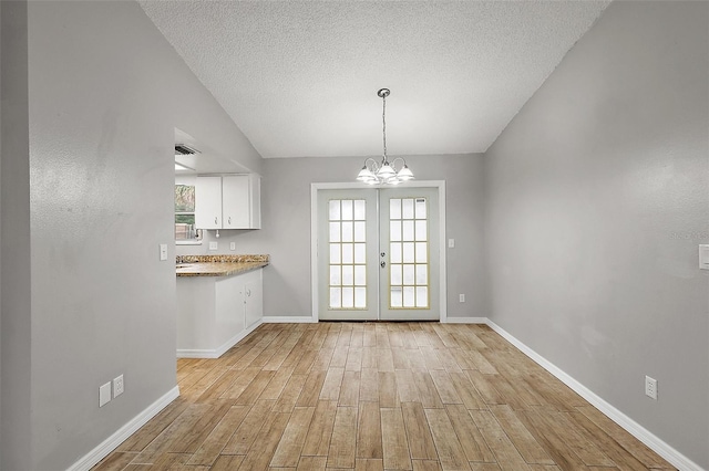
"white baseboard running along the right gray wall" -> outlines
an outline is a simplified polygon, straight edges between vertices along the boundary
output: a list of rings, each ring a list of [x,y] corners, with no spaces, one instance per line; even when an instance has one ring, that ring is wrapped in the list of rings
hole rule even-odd
[[[564,383],[566,386],[576,391],[580,397],[586,399],[594,406],[596,409],[600,410],[605,414],[610,420],[623,427],[628,433],[633,437],[640,440],[647,447],[649,447],[653,451],[655,451],[660,457],[665,458],[669,461],[674,467],[677,467],[680,471],[706,471],[699,464],[695,463],[689,458],[685,457],[682,453],[667,444],[659,437],[651,433],[645,427],[623,414],[620,410],[613,407],[610,404],[606,402],[603,398],[597,396],[594,391],[588,389],[586,386],[578,383],[576,379],[564,373],[561,368],[558,368],[553,363],[548,362],[546,358],[534,352],[532,348],[527,347],[525,344],[520,342],[516,337],[510,334],[504,328],[500,327],[494,322],[487,320],[486,324],[504,337],[512,345],[517,347],[523,354],[532,358],[544,369],[554,375],[558,380]]]

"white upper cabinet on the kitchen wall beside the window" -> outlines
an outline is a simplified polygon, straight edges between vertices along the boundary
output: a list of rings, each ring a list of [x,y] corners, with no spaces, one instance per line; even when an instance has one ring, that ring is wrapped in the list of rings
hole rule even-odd
[[[260,200],[258,175],[197,177],[195,186],[197,229],[260,229]]]

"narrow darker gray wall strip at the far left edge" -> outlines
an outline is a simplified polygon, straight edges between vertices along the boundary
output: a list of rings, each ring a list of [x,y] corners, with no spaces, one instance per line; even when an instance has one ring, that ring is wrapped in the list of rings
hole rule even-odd
[[[30,454],[30,201],[27,4],[0,2],[2,48],[0,211],[0,469],[27,469]],[[11,450],[11,451],[10,451]],[[24,463],[25,465],[20,465]]]

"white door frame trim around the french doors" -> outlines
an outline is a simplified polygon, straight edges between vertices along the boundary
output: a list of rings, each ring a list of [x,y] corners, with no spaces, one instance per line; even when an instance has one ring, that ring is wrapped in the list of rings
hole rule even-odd
[[[383,187],[383,188],[438,188],[439,190],[439,250],[441,259],[441,271],[439,276],[440,290],[440,313],[441,323],[448,320],[448,294],[446,287],[446,270],[445,270],[445,180],[414,180],[408,181],[401,186]],[[349,189],[372,189],[378,187],[369,187],[359,182],[343,184],[310,184],[310,287],[312,291],[312,322],[318,322],[318,191],[319,190],[349,190]]]

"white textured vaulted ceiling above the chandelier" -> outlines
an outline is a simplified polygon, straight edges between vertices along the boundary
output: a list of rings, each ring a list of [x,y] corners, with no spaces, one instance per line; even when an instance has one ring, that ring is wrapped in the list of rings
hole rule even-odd
[[[263,157],[484,151],[607,1],[140,1]]]

